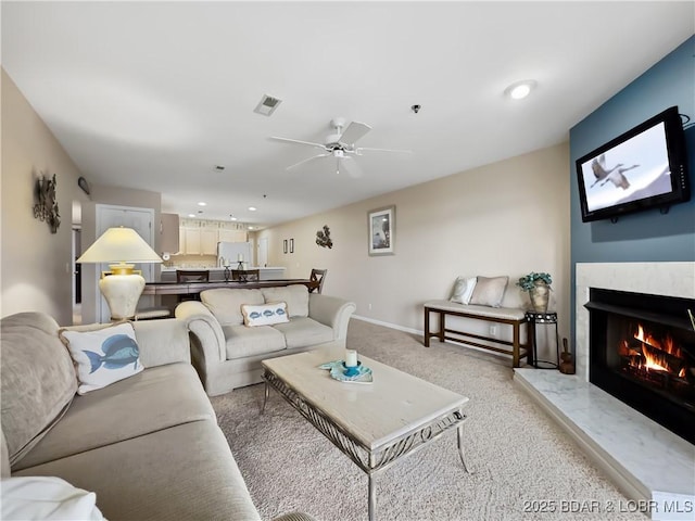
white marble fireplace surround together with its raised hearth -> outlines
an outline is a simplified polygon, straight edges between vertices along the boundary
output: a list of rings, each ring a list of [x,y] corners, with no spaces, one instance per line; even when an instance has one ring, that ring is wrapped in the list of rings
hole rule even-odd
[[[515,383],[628,497],[656,501],[645,513],[653,519],[692,519],[692,510],[687,517],[664,517],[664,506],[695,501],[695,445],[589,382],[584,304],[591,288],[695,298],[695,263],[578,263],[576,284],[577,373],[521,368],[515,370]]]

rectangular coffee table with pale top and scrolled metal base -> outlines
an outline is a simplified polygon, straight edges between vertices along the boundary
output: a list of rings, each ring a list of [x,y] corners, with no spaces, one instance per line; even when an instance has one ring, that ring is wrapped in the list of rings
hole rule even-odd
[[[341,360],[344,350],[318,350],[263,360],[265,398],[270,387],[369,476],[369,520],[376,519],[376,474],[452,429],[458,432],[464,470],[463,408],[452,391],[359,356],[372,383],[340,382],[318,366]]]

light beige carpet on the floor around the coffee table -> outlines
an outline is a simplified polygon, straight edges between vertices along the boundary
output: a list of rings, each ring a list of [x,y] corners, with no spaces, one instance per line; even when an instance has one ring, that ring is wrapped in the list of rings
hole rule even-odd
[[[348,344],[470,398],[467,474],[456,433],[377,474],[379,520],[646,519],[511,381],[505,358],[353,319]],[[212,398],[264,519],[301,510],[321,521],[367,519],[367,475],[263,384]],[[572,503],[573,501],[573,503]],[[542,509],[543,512],[539,512]],[[614,512],[609,514],[609,511]]]

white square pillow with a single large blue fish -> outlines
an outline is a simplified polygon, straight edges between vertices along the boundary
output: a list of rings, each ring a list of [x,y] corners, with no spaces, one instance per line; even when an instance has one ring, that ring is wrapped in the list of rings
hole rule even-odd
[[[140,350],[129,322],[97,331],[61,331],[77,368],[77,394],[105,387],[142,371]]]

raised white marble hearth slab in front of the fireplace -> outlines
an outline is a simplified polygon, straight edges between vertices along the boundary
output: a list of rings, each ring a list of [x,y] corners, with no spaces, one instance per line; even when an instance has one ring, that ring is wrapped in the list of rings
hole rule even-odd
[[[695,501],[695,445],[578,376],[520,368],[514,381],[631,499]]]

